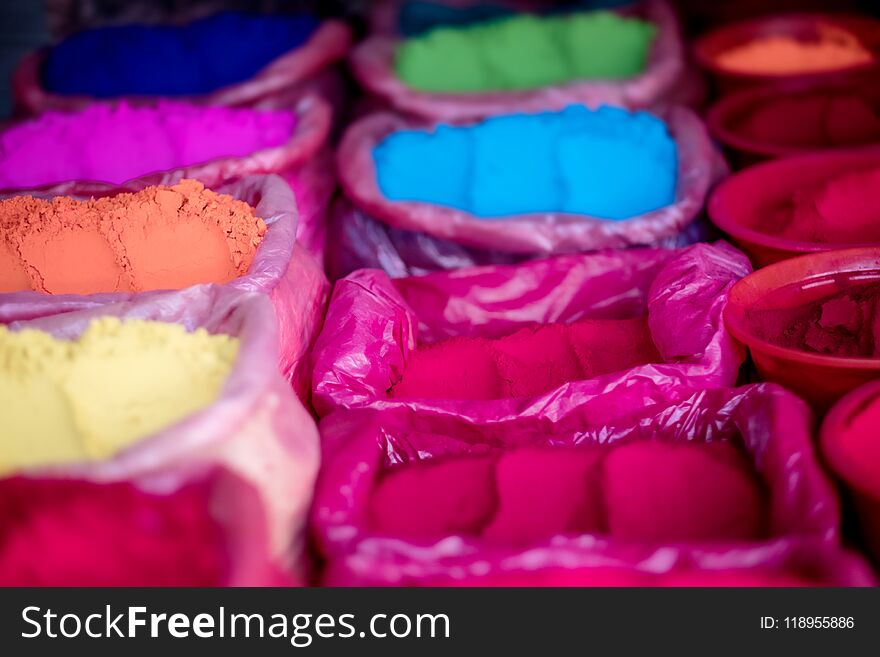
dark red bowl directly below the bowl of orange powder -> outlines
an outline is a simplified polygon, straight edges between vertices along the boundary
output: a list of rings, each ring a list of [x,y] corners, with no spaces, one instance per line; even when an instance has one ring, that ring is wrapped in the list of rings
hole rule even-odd
[[[728,159],[737,169],[763,160],[831,150],[833,147],[822,143],[786,144],[781,141],[756,139],[744,133],[742,124],[755,111],[776,102],[797,99],[808,100],[834,95],[857,96],[875,108],[875,110],[880,108],[880,87],[876,85],[868,86],[847,80],[825,82],[794,81],[783,82],[779,85],[742,89],[725,96],[709,109],[706,115],[706,123],[712,132],[712,136],[721,142],[728,155]],[[812,119],[806,116],[806,113],[798,116],[797,112],[795,112],[791,115],[791,120],[803,124]],[[880,145],[880,136],[878,136],[876,141],[839,144],[837,147],[865,146],[870,144]]]

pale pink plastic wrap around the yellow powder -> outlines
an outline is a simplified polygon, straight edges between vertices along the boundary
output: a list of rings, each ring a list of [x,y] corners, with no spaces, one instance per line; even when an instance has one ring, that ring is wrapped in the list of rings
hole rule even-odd
[[[199,285],[16,321],[10,328],[74,338],[93,318],[107,315],[232,335],[240,340],[239,355],[207,408],[106,461],[23,474],[126,481],[160,494],[213,476],[211,512],[228,537],[228,584],[306,583],[305,521],[320,460],[318,431],[275,367],[278,334],[271,304],[261,294]]]

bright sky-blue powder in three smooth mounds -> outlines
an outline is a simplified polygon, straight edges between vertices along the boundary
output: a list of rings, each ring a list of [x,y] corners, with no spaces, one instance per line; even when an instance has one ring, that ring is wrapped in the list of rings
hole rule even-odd
[[[615,107],[513,114],[392,133],[373,151],[382,194],[477,217],[563,212],[621,220],[675,202],[666,124]]]

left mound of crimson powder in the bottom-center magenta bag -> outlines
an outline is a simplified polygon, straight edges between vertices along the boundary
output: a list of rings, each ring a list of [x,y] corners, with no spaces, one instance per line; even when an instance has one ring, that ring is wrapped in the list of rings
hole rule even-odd
[[[498,505],[489,456],[392,468],[370,498],[372,527],[404,538],[479,534]]]

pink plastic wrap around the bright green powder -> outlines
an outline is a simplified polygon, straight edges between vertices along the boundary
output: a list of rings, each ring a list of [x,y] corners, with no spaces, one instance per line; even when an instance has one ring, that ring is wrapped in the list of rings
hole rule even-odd
[[[676,91],[685,74],[684,46],[674,11],[666,0],[645,0],[632,11],[654,23],[657,37],[645,71],[628,80],[574,81],[528,91],[440,94],[407,87],[395,74],[398,39],[376,34],[352,50],[358,82],[401,112],[439,121],[462,121],[510,112],[542,112],[566,105],[607,103],[631,108],[657,105]]]

